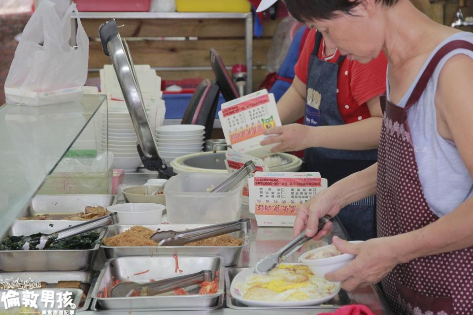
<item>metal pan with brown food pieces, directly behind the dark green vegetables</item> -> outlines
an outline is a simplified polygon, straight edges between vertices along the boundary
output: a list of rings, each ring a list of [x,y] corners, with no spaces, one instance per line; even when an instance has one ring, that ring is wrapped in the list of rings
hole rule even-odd
[[[117,195],[35,195],[30,206],[21,214],[20,217],[32,217],[38,214],[67,215],[85,212],[85,207],[87,206],[102,206],[107,209],[108,206],[117,203],[117,198]],[[41,221],[55,222],[62,220]]]

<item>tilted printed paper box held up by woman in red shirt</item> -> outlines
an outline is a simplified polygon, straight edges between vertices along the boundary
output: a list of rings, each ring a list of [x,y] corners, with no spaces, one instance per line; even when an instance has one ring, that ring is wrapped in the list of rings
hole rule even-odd
[[[274,95],[261,90],[222,104],[218,112],[220,123],[228,145],[239,153],[257,158],[271,154],[276,144],[261,146],[260,142],[269,136],[263,132],[274,126],[281,126]]]

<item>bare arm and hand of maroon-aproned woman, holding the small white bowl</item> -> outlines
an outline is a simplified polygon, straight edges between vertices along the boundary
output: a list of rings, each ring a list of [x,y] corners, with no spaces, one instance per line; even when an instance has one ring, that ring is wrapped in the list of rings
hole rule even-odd
[[[443,67],[436,93],[437,126],[441,136],[455,142],[473,177],[473,60],[465,55],[451,58]],[[440,183],[439,183],[440,185]],[[357,257],[330,281],[342,281],[353,290],[359,284],[376,283],[398,263],[473,246],[473,197],[439,220],[420,229],[353,245],[334,237],[342,252]]]

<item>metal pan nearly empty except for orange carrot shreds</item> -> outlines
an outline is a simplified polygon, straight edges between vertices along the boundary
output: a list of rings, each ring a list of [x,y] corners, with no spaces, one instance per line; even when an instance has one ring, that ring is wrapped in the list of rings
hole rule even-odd
[[[196,308],[212,308],[218,305],[218,299],[225,290],[225,267],[223,258],[219,256],[140,256],[119,257],[105,262],[97,283],[92,292],[92,298],[97,300],[96,307],[105,311],[124,310],[182,310]],[[176,272],[176,259],[182,273]],[[147,283],[151,279],[162,280],[177,276],[192,274],[202,270],[211,270],[218,277],[219,290],[208,295],[161,295],[137,297],[99,297],[106,287],[110,289],[111,281],[133,281]],[[113,278],[112,278],[113,277]]]

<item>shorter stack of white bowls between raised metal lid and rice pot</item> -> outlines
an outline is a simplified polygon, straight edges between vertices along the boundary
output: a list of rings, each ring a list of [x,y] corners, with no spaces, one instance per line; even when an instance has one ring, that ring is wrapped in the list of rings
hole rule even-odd
[[[174,158],[203,151],[205,127],[168,125],[156,128],[159,155],[169,164]]]

